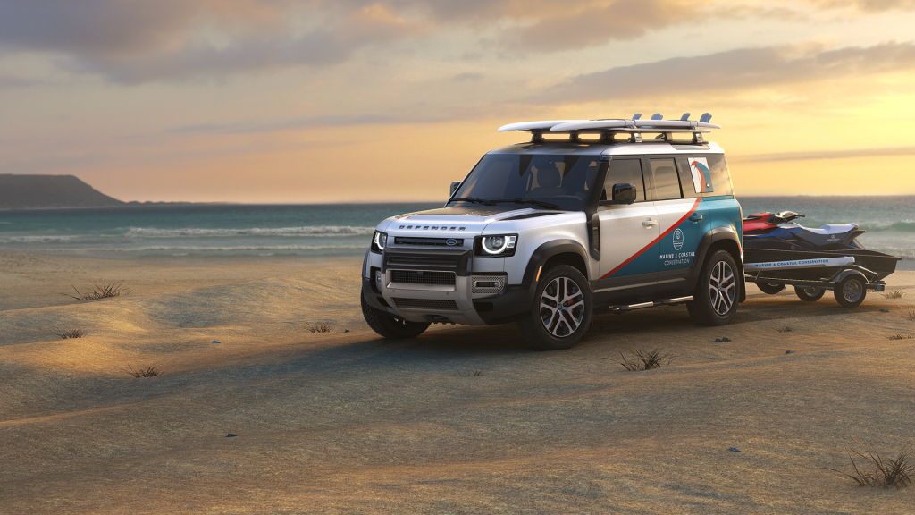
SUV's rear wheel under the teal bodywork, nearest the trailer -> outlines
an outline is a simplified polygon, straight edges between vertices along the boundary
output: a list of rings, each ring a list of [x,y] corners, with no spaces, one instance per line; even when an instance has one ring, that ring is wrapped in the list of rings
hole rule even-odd
[[[726,325],[737,312],[740,281],[737,263],[727,250],[716,250],[705,260],[693,300],[686,311],[699,325]]]

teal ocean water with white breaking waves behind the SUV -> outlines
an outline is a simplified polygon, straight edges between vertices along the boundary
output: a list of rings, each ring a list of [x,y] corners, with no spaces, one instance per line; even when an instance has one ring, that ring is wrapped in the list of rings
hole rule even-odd
[[[745,215],[794,211],[802,225],[854,222],[868,248],[915,269],[915,196],[747,197]],[[442,203],[187,204],[0,211],[0,252],[102,257],[359,257],[375,225]]]

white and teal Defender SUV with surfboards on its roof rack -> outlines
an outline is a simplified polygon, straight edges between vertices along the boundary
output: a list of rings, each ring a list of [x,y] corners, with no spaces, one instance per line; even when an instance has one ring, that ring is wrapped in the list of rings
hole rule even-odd
[[[501,127],[533,137],[483,156],[441,209],[378,225],[366,322],[387,338],[515,322],[544,349],[575,345],[600,312],[685,303],[728,323],[746,295],[742,214],[710,118]]]

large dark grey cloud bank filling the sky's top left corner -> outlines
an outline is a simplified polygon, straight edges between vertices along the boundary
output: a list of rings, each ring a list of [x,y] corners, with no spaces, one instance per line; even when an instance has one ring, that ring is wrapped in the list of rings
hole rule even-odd
[[[0,0],[0,13],[0,50],[57,53],[70,71],[128,83],[334,64],[421,29],[379,5],[328,0]],[[315,27],[299,33],[293,15]],[[225,44],[202,43],[201,29]]]

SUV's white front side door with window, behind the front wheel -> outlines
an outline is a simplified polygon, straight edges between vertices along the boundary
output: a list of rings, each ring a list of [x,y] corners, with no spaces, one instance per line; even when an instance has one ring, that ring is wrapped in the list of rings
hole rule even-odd
[[[597,211],[600,219],[600,279],[595,291],[617,291],[650,287],[657,280],[658,255],[651,252],[658,237],[658,212],[646,194],[651,182],[645,181],[642,160],[613,159],[604,181],[607,200],[613,185],[633,184],[636,201],[632,204],[602,205]],[[602,197],[603,198],[603,197]],[[649,294],[643,290],[643,293]],[[627,296],[627,295],[622,295]]]

